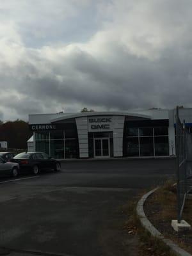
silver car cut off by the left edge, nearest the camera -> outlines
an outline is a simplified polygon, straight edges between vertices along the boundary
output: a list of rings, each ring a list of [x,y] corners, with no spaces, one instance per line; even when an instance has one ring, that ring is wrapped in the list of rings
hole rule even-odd
[[[17,177],[19,175],[19,164],[11,163],[0,157],[0,175]]]

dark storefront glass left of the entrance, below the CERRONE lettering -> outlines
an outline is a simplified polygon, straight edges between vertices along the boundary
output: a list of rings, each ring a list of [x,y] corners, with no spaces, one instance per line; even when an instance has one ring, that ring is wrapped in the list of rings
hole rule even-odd
[[[57,159],[79,157],[77,131],[44,131],[35,133],[36,151]]]

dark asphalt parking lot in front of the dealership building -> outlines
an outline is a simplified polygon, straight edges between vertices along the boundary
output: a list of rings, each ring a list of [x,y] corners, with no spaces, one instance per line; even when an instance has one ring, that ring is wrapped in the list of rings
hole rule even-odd
[[[0,246],[10,255],[137,255],[122,205],[174,173],[175,159],[116,159],[0,180]]]

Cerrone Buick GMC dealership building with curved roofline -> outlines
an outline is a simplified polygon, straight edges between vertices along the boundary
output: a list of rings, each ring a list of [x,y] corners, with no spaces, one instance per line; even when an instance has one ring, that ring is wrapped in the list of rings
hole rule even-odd
[[[192,109],[179,115],[190,129]],[[174,109],[29,115],[29,127],[29,150],[57,159],[175,155]]]

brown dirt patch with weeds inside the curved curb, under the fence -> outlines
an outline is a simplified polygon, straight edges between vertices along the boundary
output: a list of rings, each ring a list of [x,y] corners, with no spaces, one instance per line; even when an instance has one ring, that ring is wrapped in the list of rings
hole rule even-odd
[[[192,253],[192,230],[177,233],[171,226],[172,220],[177,219],[177,196],[172,184],[167,183],[153,193],[145,202],[144,211],[148,220],[164,237],[172,239],[181,248]],[[186,200],[183,219],[192,226],[191,199]]]

